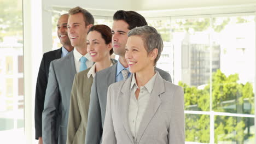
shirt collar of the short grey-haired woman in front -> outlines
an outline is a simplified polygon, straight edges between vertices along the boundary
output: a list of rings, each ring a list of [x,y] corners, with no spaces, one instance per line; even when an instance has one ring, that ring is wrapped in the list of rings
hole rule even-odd
[[[146,83],[146,85],[143,86],[143,87],[146,87],[146,89],[148,90],[149,93],[151,93],[152,90],[153,90],[155,79],[156,79],[156,74],[157,73],[155,72],[154,76]],[[137,85],[137,82],[136,82],[136,79],[135,79],[135,74],[132,74],[132,81],[131,81],[130,91],[132,91],[133,87],[138,88],[138,85]]]

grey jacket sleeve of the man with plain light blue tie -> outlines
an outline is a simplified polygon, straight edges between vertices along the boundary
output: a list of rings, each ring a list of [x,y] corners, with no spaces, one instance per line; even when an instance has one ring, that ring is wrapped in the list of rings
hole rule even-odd
[[[56,121],[57,111],[60,104],[60,92],[56,79],[53,62],[50,63],[49,79],[46,88],[44,111],[43,111],[43,143],[55,144],[56,139]]]

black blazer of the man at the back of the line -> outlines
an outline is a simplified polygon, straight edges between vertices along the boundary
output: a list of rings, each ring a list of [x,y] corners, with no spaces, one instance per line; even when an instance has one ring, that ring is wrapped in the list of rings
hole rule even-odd
[[[42,113],[44,110],[44,98],[48,83],[50,62],[61,58],[61,48],[45,52],[37,75],[36,97],[34,99],[34,127],[36,128],[36,139],[42,136]]]

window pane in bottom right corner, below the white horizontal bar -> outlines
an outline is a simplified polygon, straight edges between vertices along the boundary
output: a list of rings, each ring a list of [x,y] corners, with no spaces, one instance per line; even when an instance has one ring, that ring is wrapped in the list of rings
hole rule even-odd
[[[255,143],[254,118],[216,116],[214,120],[215,143]]]

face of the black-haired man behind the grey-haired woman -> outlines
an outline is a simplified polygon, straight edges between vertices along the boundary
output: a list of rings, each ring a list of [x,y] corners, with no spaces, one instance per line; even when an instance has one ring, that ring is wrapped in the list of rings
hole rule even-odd
[[[125,45],[128,39],[129,25],[123,20],[114,20],[112,27],[112,46],[115,55],[125,56]]]

